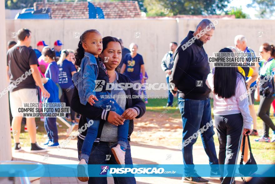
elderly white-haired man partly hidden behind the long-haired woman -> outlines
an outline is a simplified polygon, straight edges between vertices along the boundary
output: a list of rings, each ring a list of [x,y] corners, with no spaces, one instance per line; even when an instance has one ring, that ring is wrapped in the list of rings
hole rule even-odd
[[[254,51],[247,46],[247,39],[245,38],[244,35],[235,36],[234,43],[235,43],[235,46],[239,50],[241,50],[242,52],[254,53]],[[256,67],[251,67],[251,68],[253,70],[256,70]],[[246,77],[246,83],[247,83],[247,86],[249,86],[250,88],[253,87],[254,85],[256,85],[256,81],[254,81],[251,77],[250,78]],[[251,135],[256,135],[257,136],[258,135],[258,132],[257,132],[257,115],[256,115],[256,111],[255,111],[255,108],[254,108],[255,89],[254,88],[252,88],[252,89],[253,89],[252,93],[250,93],[250,95],[248,96],[250,115],[253,118],[253,131],[252,131]]]

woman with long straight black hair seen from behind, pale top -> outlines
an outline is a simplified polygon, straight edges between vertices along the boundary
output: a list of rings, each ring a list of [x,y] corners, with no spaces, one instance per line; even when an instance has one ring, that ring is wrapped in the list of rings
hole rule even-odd
[[[224,48],[219,52],[232,52]],[[246,93],[245,80],[237,67],[215,67],[214,74],[207,76],[206,84],[213,91],[213,114],[220,145],[219,164],[236,164],[242,135],[250,134],[252,117]],[[227,155],[226,155],[227,154]],[[221,183],[232,184],[234,172],[230,170],[221,177]]]

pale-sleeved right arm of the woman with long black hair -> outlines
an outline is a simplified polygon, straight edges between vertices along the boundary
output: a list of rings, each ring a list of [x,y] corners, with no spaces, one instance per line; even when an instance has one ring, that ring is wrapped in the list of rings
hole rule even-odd
[[[240,99],[240,97],[246,93],[247,93],[247,89],[246,89],[245,82],[243,79],[240,79],[236,85],[236,97],[237,97],[238,106],[242,113],[244,129],[247,129],[246,131],[248,131],[248,130],[251,130],[251,125],[253,124],[253,119],[250,116],[250,111],[248,107],[248,98],[245,97],[244,99]]]

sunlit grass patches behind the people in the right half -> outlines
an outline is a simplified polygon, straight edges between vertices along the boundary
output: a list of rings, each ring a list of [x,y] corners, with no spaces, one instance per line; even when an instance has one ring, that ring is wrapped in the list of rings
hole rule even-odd
[[[176,102],[176,99],[174,99],[174,102]],[[153,111],[153,112],[158,112],[162,113],[165,109],[163,106],[165,106],[167,103],[167,99],[148,99],[148,104],[146,105],[146,110],[147,111]],[[210,101],[211,107],[213,107],[213,99]],[[177,105],[176,105],[177,106]],[[176,106],[173,108],[170,108],[169,111],[167,111],[168,116],[172,118],[181,118],[181,114],[179,112],[179,109],[176,109]],[[259,107],[259,102],[255,102],[255,110],[257,112],[257,109]],[[213,115],[213,108],[211,111],[212,118],[214,118]],[[271,111],[272,112],[272,108]],[[273,122],[275,122],[275,117],[271,116],[271,119]],[[263,125],[262,125],[262,120],[257,117],[257,129],[258,130],[263,130]],[[269,129],[269,136],[272,136],[272,130]],[[255,142],[253,139],[257,138],[257,136],[250,136],[250,141],[251,141],[251,147],[252,147],[252,153],[255,158],[258,158],[259,160],[265,160],[267,163],[275,163],[275,143],[259,143]],[[182,137],[177,137],[174,138],[174,141],[176,143],[182,141]],[[175,143],[175,144],[176,144]],[[218,142],[218,136],[217,134],[214,135],[214,143],[215,145],[219,145]],[[202,141],[201,137],[198,137],[197,142],[195,143],[197,146],[202,146]]]

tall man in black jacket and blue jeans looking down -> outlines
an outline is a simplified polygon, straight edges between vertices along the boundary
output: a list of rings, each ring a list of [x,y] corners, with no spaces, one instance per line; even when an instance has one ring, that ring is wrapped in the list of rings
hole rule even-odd
[[[179,92],[178,103],[183,119],[183,163],[186,165],[184,181],[188,183],[208,182],[194,170],[192,148],[198,134],[201,134],[209,163],[218,164],[213,139],[215,133],[211,118],[210,89],[205,83],[210,67],[208,56],[202,46],[211,39],[214,30],[214,24],[208,19],[203,19],[195,31],[189,31],[174,53],[174,66],[169,78],[169,82],[175,84],[171,91],[174,94],[176,91]],[[212,170],[210,174],[214,175],[215,171]]]

